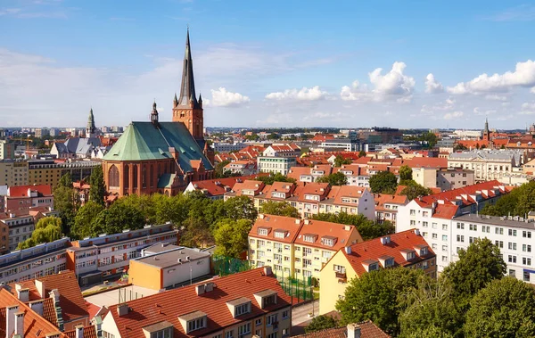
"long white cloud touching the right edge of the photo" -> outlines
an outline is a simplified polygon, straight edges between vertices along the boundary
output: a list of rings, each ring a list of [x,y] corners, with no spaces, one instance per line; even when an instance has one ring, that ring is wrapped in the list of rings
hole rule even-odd
[[[503,74],[481,74],[468,82],[460,82],[455,87],[448,87],[451,94],[506,93],[511,87],[535,86],[535,62],[517,62],[514,71]]]

